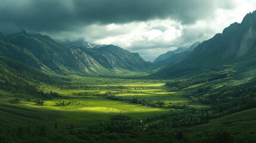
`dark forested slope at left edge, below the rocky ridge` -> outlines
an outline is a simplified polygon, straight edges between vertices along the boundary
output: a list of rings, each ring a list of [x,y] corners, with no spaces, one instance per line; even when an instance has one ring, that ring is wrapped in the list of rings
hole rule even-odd
[[[35,69],[2,54],[0,54],[0,67],[0,89],[13,93],[35,95],[38,93],[36,84],[39,82],[64,84],[69,80],[57,74],[42,72],[42,70]]]

